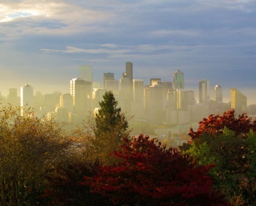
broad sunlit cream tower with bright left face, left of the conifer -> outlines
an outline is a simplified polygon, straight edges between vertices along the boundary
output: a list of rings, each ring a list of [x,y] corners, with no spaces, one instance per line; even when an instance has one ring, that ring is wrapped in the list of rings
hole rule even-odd
[[[78,123],[82,121],[87,116],[87,95],[85,92],[84,79],[76,78],[70,80],[70,93],[73,97],[73,112],[77,115]]]

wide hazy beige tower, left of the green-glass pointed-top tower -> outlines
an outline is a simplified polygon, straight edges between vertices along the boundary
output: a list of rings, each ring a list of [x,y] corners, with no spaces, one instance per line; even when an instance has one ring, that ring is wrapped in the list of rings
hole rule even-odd
[[[166,113],[163,113],[163,86],[149,86],[149,119],[152,122],[162,122],[166,120]]]

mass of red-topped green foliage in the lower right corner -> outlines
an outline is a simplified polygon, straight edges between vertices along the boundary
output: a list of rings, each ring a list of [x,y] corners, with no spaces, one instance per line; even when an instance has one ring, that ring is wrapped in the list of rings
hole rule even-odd
[[[183,153],[199,158],[197,165],[215,163],[209,174],[214,185],[233,205],[254,205],[256,190],[256,124],[246,114],[235,118],[235,110],[210,115],[191,130],[190,144]]]

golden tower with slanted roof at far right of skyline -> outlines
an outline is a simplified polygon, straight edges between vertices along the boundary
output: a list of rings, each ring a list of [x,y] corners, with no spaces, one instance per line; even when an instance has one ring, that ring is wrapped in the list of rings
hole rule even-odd
[[[247,112],[247,98],[236,88],[231,88],[231,108],[235,110],[236,115]]]

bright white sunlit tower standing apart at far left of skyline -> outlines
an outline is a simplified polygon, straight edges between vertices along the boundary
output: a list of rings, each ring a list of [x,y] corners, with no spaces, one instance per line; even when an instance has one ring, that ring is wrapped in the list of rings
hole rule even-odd
[[[26,104],[28,107],[34,107],[33,87],[28,84],[21,86],[21,107],[24,107]]]

